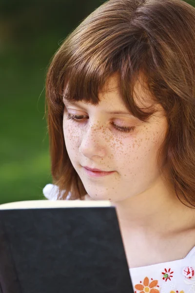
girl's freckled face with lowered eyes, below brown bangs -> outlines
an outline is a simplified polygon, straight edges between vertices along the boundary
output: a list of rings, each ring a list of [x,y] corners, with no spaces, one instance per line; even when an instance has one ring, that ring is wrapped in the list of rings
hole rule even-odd
[[[64,100],[66,149],[94,200],[125,200],[151,188],[159,177],[156,157],[167,128],[162,108],[143,123],[128,112],[116,87],[117,79],[111,78],[97,106]],[[146,98],[140,84],[135,91]],[[93,176],[84,167],[113,172]]]

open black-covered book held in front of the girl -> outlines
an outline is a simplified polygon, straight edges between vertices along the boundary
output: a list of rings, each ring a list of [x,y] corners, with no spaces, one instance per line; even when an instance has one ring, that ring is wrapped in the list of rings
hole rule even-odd
[[[134,293],[109,201],[0,205],[0,293]]]

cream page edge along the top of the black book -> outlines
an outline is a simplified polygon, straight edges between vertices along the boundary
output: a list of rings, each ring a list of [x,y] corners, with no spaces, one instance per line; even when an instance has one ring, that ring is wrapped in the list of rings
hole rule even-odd
[[[111,207],[108,200],[27,200],[1,204],[0,209],[91,208]]]

